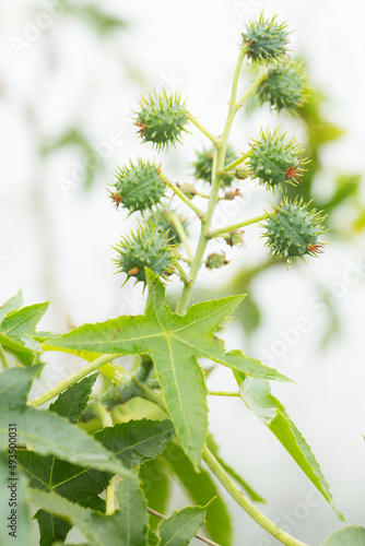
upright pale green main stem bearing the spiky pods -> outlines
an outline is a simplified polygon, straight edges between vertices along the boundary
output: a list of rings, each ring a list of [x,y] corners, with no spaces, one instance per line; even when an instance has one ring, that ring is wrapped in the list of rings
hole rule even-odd
[[[232,123],[233,123],[233,120],[235,118],[235,115],[237,112],[237,108],[236,108],[237,88],[238,88],[240,69],[242,69],[244,59],[246,57],[246,54],[247,54],[247,47],[244,46],[239,51],[239,56],[238,56],[238,60],[237,60],[237,64],[236,64],[236,70],[235,70],[235,74],[233,78],[228,115],[227,115],[224,131],[222,134],[221,144],[220,144],[219,150],[215,152],[215,154],[213,156],[212,191],[211,191],[205,217],[202,219],[202,223],[201,223],[201,230],[200,230],[200,237],[199,237],[197,252],[196,252],[196,256],[192,260],[191,268],[190,268],[190,278],[192,281],[192,286],[188,286],[188,285],[184,286],[181,297],[180,297],[179,304],[178,304],[177,309],[176,309],[176,311],[180,314],[184,314],[186,312],[187,307],[189,305],[189,300],[190,300],[191,294],[192,294],[193,283],[196,282],[198,272],[199,272],[200,266],[201,266],[201,262],[203,260],[204,251],[205,251],[207,245],[209,242],[209,237],[207,237],[207,235],[209,233],[210,225],[211,225],[213,214],[214,214],[214,210],[215,210],[216,203],[219,201],[219,191],[221,188],[221,176],[217,175],[216,171],[222,170],[224,167],[231,128],[232,128]]]

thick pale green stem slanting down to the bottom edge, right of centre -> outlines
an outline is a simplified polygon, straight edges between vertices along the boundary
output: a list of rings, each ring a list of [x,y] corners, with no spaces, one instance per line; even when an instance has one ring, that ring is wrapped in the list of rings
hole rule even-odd
[[[255,505],[246,495],[244,495],[238,487],[233,483],[229,476],[226,474],[225,470],[221,466],[221,464],[216,461],[214,455],[209,451],[208,448],[203,451],[203,461],[214,474],[214,476],[221,482],[226,491],[231,495],[231,497],[255,520],[261,527],[268,531],[272,536],[278,538],[282,544],[286,544],[286,546],[308,546],[307,544],[297,541],[290,534],[287,534],[284,530],[280,529],[275,525],[271,520],[269,520],[260,510],[256,508]]]

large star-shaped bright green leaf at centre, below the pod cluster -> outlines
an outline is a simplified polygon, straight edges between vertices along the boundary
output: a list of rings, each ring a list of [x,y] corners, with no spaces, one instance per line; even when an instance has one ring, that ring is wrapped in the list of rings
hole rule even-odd
[[[120,355],[150,353],[176,434],[198,468],[205,443],[208,408],[207,388],[197,358],[209,358],[248,376],[289,379],[239,351],[226,353],[223,341],[214,336],[244,296],[197,304],[181,317],[166,306],[165,288],[158,277],[146,270],[146,280],[150,293],[144,316],[85,324],[51,340],[45,348]]]

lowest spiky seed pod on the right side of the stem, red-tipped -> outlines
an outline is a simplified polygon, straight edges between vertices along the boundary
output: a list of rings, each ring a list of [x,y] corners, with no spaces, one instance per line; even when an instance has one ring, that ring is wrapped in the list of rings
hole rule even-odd
[[[316,210],[308,211],[309,203],[303,199],[290,202],[283,199],[280,206],[275,206],[275,215],[270,216],[264,224],[267,237],[266,246],[274,257],[286,258],[287,269],[293,259],[305,256],[317,256],[322,252],[323,245],[318,237],[325,232],[320,223],[323,218]]]

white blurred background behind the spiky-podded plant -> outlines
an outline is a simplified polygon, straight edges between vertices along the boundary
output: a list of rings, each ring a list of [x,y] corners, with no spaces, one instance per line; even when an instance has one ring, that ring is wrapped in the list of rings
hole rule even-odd
[[[63,4],[0,4],[0,302],[21,287],[27,305],[50,299],[42,329],[64,331],[70,324],[143,310],[141,288],[128,284],[120,289],[123,278],[113,275],[110,247],[138,217],[127,219],[125,212],[116,211],[106,189],[116,164],[154,155],[149,144],[140,144],[130,110],[141,93],[164,85],[188,97],[190,111],[220,133],[242,21],[262,10],[278,13],[296,29],[291,48],[305,59],[313,86],[328,96],[326,119],[344,130],[321,150],[315,193],[319,199],[331,195],[337,173],[364,173],[365,9],[358,0],[95,4],[126,22],[113,31],[86,16],[83,2]],[[247,81],[243,78],[243,88]],[[260,126],[278,123],[276,115],[264,109],[242,115],[233,143],[245,151]],[[301,123],[287,118],[280,123],[301,140]],[[184,143],[161,154],[160,161],[172,178],[188,181],[193,151],[209,143],[193,129]],[[251,185],[238,205],[222,207],[216,225],[259,214],[271,199]],[[363,186],[356,199],[364,207]],[[354,214],[346,203],[335,211],[335,240],[329,233],[331,245],[319,259],[309,259],[308,266],[263,272],[252,286],[262,313],[260,328],[248,339],[233,324],[226,340],[229,347],[240,346],[298,383],[274,385],[273,391],[311,444],[348,521],[365,525],[365,251],[361,229],[349,227]],[[267,254],[259,235],[258,228],[248,228],[245,248],[227,251],[233,262],[215,273],[202,271],[200,283],[217,293],[215,287],[234,278],[239,268],[259,264]],[[323,288],[337,321],[326,349],[319,348],[330,320],[318,295]],[[309,328],[298,333],[301,317]],[[219,370],[210,388],[235,385],[227,370]],[[341,526],[327,502],[311,495],[310,483],[275,438],[239,401],[214,400],[210,407],[211,430],[222,454],[268,499],[263,510],[270,518],[310,545]],[[176,502],[185,502],[178,491]],[[278,544],[227,502],[237,546]]]

